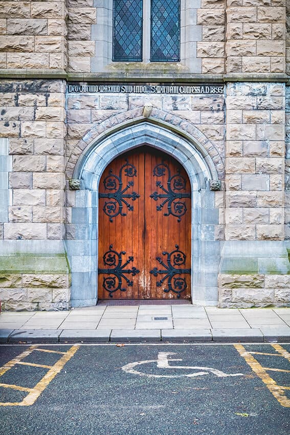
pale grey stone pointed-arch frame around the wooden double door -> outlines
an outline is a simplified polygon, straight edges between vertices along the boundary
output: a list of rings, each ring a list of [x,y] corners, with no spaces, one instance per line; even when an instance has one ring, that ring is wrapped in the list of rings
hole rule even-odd
[[[81,180],[81,190],[75,192],[75,207],[72,209],[73,236],[66,240],[72,270],[73,307],[96,305],[98,300],[98,186],[101,175],[116,157],[145,144],[174,157],[188,174],[192,192],[192,302],[217,305],[220,244],[214,240],[213,226],[218,224],[218,209],[215,208],[215,192],[209,190],[209,181],[218,179],[217,171],[208,152],[198,141],[186,137],[172,125],[160,124],[160,121],[157,124],[143,118],[115,129],[111,135],[106,132],[86,148],[76,164],[73,177]],[[205,210],[209,210],[210,219]]]

